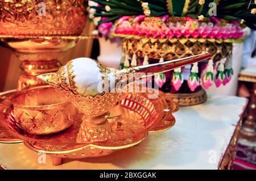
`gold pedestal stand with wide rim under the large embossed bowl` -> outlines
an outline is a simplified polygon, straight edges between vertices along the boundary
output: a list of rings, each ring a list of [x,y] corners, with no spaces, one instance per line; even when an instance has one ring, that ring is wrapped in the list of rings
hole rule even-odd
[[[18,79],[17,90],[46,85],[37,75],[59,70],[64,52],[75,47],[81,39],[95,39],[97,36],[7,36],[0,35],[0,43],[14,50],[24,71]]]

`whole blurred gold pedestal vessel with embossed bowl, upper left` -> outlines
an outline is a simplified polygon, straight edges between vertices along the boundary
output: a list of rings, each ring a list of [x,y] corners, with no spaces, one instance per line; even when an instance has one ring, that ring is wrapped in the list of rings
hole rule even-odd
[[[85,23],[87,0],[0,2],[0,39],[21,61],[17,89],[44,85],[35,76],[59,69]],[[45,14],[44,14],[45,12]]]

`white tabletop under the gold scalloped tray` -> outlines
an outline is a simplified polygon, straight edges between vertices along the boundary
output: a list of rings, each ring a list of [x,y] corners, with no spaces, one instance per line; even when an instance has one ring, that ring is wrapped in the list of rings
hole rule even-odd
[[[166,132],[150,134],[138,146],[106,157],[64,159],[53,166],[50,157],[23,144],[0,144],[0,165],[6,169],[218,169],[247,100],[210,94],[204,104],[182,107],[176,124]]]

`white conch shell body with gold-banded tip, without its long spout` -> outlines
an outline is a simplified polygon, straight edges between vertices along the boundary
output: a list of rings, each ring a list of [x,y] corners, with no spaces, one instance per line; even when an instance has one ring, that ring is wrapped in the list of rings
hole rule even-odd
[[[69,89],[75,94],[83,96],[96,96],[102,94],[103,78],[107,77],[110,87],[114,86],[114,76],[91,58],[76,58],[62,66],[57,73],[38,75],[37,78],[64,89]]]

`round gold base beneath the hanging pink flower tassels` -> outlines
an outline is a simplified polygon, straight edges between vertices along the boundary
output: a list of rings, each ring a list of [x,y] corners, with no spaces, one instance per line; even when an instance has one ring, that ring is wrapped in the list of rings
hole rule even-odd
[[[193,93],[166,93],[166,98],[172,99],[179,106],[193,106],[207,101],[207,93],[204,89]]]

